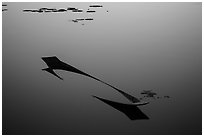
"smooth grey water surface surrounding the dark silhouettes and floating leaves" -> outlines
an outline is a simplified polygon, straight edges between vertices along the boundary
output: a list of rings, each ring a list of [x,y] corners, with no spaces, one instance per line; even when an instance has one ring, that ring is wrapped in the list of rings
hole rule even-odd
[[[101,3],[86,13],[23,13],[91,3],[7,3],[2,12],[4,134],[201,134],[202,4]],[[109,10],[109,13],[106,12]],[[69,22],[93,17],[84,26]],[[171,99],[140,107],[131,121],[91,97],[128,103],[90,78],[42,71],[56,55],[132,95],[153,89]]]

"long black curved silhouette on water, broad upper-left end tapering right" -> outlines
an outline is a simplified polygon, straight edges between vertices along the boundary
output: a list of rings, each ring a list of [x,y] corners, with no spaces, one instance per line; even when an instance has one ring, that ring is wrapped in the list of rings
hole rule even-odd
[[[108,84],[108,83],[106,83],[106,82],[96,78],[96,77],[93,77],[93,76],[91,76],[91,75],[89,75],[89,74],[87,74],[87,73],[85,73],[85,72],[83,72],[83,71],[81,71],[81,70],[79,70],[79,69],[69,65],[69,64],[66,64],[66,63],[60,61],[56,56],[42,57],[42,60],[48,66],[48,68],[43,69],[43,70],[46,70],[47,72],[49,72],[51,74],[53,74],[53,72],[54,72],[53,70],[65,70],[65,71],[81,74],[81,75],[87,76],[89,78],[92,78],[94,80],[97,80],[97,81],[99,81],[99,82],[101,82],[101,83],[103,83],[103,84],[105,84],[105,85],[115,89],[116,91],[118,91],[120,94],[122,94],[125,98],[127,98],[132,103],[140,102],[140,100],[135,98],[134,96],[129,95],[129,94],[125,93],[124,91],[122,91],[122,90],[120,90],[120,89],[118,89],[118,88],[116,88],[116,87],[114,87],[114,86],[112,86],[112,85],[110,85],[110,84]],[[53,75],[55,75],[55,74],[53,74]],[[58,75],[57,75],[57,77],[59,78]],[[62,79],[62,78],[60,78],[60,79]]]

